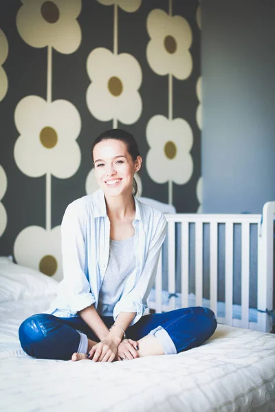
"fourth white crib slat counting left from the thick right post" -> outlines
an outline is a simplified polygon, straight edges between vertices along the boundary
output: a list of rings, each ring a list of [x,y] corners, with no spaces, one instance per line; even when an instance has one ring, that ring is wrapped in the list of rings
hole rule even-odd
[[[195,290],[196,305],[202,306],[202,282],[203,282],[203,223],[195,224]]]

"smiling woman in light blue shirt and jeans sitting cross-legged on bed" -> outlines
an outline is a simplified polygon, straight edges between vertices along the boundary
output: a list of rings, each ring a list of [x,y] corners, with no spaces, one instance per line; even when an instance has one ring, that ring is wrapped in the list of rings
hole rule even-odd
[[[135,198],[142,158],[133,136],[107,130],[92,146],[100,190],[71,203],[61,225],[64,279],[48,314],[19,328],[36,358],[131,360],[201,345],[217,321],[208,308],[144,315],[166,236],[164,215]]]

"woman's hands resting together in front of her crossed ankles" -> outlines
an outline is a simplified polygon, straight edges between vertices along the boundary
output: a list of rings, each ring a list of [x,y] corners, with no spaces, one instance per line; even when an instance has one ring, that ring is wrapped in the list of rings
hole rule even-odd
[[[132,339],[115,341],[108,336],[96,343],[87,355],[94,362],[125,361],[138,358],[138,343]]]

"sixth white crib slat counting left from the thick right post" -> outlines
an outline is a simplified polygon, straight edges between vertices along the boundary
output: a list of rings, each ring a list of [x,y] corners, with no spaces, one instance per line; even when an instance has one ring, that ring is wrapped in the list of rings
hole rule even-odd
[[[168,222],[168,293],[175,294],[175,222]],[[170,297],[168,310],[175,309],[175,296]]]

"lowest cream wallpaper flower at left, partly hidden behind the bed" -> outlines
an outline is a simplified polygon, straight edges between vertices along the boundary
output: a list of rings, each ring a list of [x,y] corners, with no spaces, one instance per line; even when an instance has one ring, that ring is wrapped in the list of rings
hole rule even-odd
[[[63,277],[61,227],[50,231],[39,226],[26,227],[14,242],[14,257],[19,264],[60,281]]]

